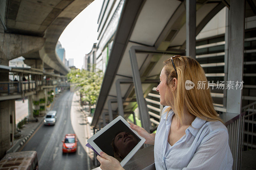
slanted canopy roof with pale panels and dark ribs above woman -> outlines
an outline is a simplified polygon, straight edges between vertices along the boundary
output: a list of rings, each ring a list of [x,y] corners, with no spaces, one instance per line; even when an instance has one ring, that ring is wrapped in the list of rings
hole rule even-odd
[[[196,3],[196,34],[225,7],[222,1],[200,2]],[[112,101],[111,109],[117,114],[118,79],[131,79],[130,83],[121,84],[124,113],[131,113],[137,107],[129,55],[131,48],[136,52],[144,98],[156,85],[163,61],[175,54],[185,54],[186,3],[179,0],[125,1],[115,36],[93,127],[98,127],[100,115],[108,112],[108,101]]]

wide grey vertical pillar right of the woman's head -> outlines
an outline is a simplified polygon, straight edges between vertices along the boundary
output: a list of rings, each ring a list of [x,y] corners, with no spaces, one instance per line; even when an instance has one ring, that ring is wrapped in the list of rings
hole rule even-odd
[[[239,12],[238,12],[239,11]],[[231,0],[229,16],[228,81],[243,81],[245,0]],[[227,90],[227,112],[241,114],[242,89]]]

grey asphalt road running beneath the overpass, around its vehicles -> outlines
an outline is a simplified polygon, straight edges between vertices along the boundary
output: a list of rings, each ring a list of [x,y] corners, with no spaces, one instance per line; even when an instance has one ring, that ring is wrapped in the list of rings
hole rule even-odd
[[[24,145],[22,151],[34,150],[37,152],[40,170],[88,169],[87,154],[84,147],[82,147],[80,143],[80,135],[77,135],[78,139],[80,138],[77,143],[77,152],[65,154],[62,153],[61,141],[63,140],[65,134],[75,133],[70,119],[70,111],[71,109],[73,110],[73,108],[71,108],[72,99],[75,94],[67,91],[60,95],[61,96],[55,100],[52,108],[52,110],[57,111],[58,119],[56,124],[54,126],[42,125]],[[74,123],[75,122],[73,122],[73,124]],[[78,122],[75,124],[78,124],[77,126],[79,126]]]

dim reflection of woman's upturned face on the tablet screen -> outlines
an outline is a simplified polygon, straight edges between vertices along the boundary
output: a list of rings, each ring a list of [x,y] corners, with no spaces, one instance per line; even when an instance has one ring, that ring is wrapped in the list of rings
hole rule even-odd
[[[121,162],[138,143],[138,139],[129,132],[117,132],[111,144],[114,157]]]

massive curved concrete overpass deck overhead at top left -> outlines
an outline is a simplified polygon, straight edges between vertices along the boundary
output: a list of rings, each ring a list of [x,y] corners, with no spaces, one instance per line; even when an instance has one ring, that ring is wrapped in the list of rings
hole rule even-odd
[[[14,1],[0,3],[1,65],[23,56],[37,69],[68,70],[55,54],[56,43],[66,26],[93,0]]]

